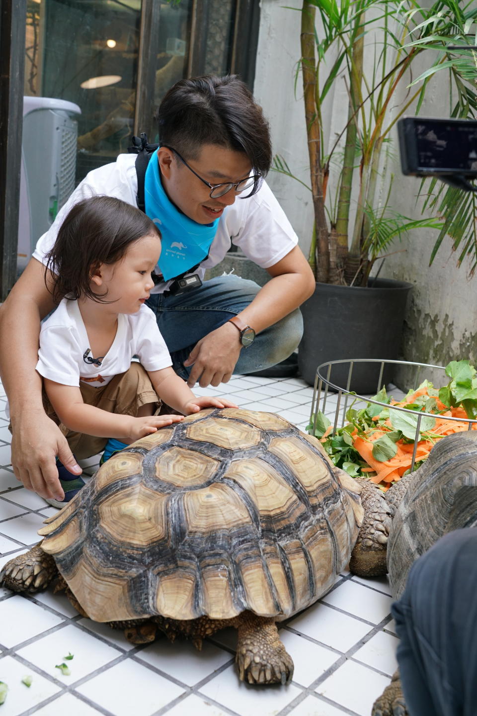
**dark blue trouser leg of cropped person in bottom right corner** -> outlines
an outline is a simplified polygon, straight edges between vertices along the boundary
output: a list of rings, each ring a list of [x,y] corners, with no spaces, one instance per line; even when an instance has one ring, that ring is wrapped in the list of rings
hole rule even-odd
[[[477,529],[448,533],[412,566],[392,606],[410,716],[477,713]]]

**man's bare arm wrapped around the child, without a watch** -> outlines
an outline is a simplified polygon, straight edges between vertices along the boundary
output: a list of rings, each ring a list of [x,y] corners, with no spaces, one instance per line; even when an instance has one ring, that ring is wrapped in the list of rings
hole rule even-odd
[[[56,455],[74,475],[82,469],[62,432],[44,412],[38,361],[40,321],[54,308],[44,266],[31,258],[0,307],[0,375],[9,399],[11,465],[16,479],[41,497],[62,500]]]

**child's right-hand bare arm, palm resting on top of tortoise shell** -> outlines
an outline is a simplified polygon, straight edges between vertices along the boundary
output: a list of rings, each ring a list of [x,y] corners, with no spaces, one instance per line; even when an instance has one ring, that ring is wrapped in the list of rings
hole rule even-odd
[[[187,383],[174,373],[172,368],[162,368],[147,372],[157,395],[174,410],[190,415],[203,407],[237,407],[225,398],[213,398],[207,395],[197,397]]]

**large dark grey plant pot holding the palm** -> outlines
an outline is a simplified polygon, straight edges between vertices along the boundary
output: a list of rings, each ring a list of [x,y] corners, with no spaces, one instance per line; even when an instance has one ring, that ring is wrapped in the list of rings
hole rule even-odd
[[[375,279],[367,288],[317,283],[313,296],[301,306],[304,332],[298,367],[303,379],[313,385],[317,367],[331,360],[398,359],[412,288],[413,284],[393,279]],[[331,382],[345,388],[348,368],[348,364],[333,367]],[[350,390],[374,393],[379,369],[380,364],[355,364]],[[392,381],[392,370],[392,366],[386,369],[383,382]]]

